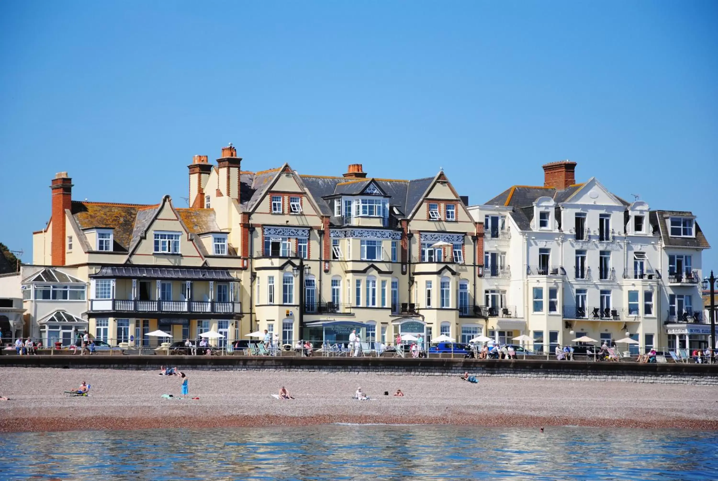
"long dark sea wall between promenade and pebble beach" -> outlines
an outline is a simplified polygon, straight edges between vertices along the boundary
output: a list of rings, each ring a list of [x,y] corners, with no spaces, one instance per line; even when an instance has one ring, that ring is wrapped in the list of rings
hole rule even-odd
[[[0,356],[0,367],[63,369],[345,372],[361,375],[531,377],[570,380],[619,380],[661,384],[718,385],[718,365],[638,364],[536,359],[401,359],[387,357],[205,357],[205,356]]]

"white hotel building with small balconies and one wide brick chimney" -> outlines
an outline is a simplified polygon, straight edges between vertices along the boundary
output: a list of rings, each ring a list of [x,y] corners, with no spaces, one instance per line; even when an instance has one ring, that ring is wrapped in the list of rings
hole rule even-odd
[[[484,222],[488,335],[527,334],[553,349],[587,335],[632,348],[707,347],[695,216],[629,203],[576,162],[544,165],[544,185],[514,185],[469,208]]]

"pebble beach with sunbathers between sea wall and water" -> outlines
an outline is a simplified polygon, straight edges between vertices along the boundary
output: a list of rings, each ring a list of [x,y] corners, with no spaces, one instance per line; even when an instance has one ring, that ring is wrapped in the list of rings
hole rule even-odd
[[[4,368],[0,431],[306,426],[321,423],[600,426],[718,429],[718,390],[707,385],[338,372]],[[88,397],[63,391],[83,380]],[[294,400],[272,394],[285,386]],[[371,400],[353,400],[360,387]],[[401,389],[404,397],[394,397]],[[384,395],[384,392],[389,395]],[[172,398],[163,398],[172,394]]]

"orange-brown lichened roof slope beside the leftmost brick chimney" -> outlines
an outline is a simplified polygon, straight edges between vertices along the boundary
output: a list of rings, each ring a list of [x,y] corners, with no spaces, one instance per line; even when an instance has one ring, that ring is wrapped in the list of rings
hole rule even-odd
[[[139,212],[153,206],[129,203],[73,201],[70,214],[80,230],[113,229],[113,251],[129,252]],[[86,250],[95,250],[82,239]]]

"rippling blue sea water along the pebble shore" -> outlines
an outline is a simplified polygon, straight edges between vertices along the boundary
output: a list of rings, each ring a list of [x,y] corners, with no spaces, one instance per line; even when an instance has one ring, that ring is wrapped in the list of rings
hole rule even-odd
[[[0,435],[1,479],[716,480],[718,433],[324,425]]]

